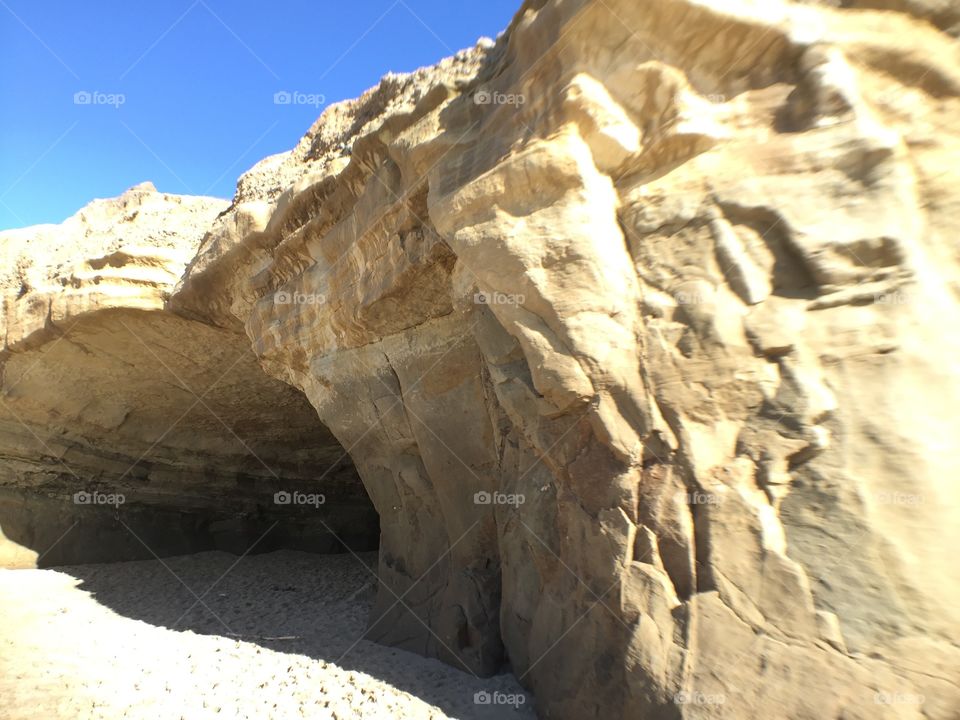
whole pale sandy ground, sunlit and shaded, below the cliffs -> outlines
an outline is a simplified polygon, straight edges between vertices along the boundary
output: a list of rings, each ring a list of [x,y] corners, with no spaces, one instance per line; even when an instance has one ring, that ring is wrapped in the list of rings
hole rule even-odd
[[[195,598],[158,561],[0,570],[0,718],[534,717],[510,675],[482,680],[366,640],[343,656],[375,582],[352,555],[164,562],[201,596],[223,576],[204,602],[229,630],[202,605],[170,629]],[[476,704],[484,690],[523,702]]]

